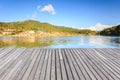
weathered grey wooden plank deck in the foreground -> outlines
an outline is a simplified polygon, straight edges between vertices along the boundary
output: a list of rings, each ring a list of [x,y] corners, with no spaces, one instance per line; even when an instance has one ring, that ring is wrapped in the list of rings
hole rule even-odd
[[[120,48],[0,48],[0,80],[120,80]]]

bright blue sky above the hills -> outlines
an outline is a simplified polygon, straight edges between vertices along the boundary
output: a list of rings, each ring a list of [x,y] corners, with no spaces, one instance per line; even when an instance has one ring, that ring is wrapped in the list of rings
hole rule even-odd
[[[120,23],[120,0],[0,0],[0,22],[34,19],[86,28]]]

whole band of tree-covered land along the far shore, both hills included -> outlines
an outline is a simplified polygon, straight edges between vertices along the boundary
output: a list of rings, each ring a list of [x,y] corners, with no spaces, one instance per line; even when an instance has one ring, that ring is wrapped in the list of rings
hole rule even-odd
[[[105,35],[120,36],[120,25],[106,28],[100,32],[89,29],[76,29],[64,26],[56,26],[49,23],[41,23],[35,20],[26,20],[19,22],[0,22],[0,35],[23,35],[24,34],[41,34],[45,35]],[[41,36],[40,35],[40,36]],[[30,35],[31,36],[31,35]]]

